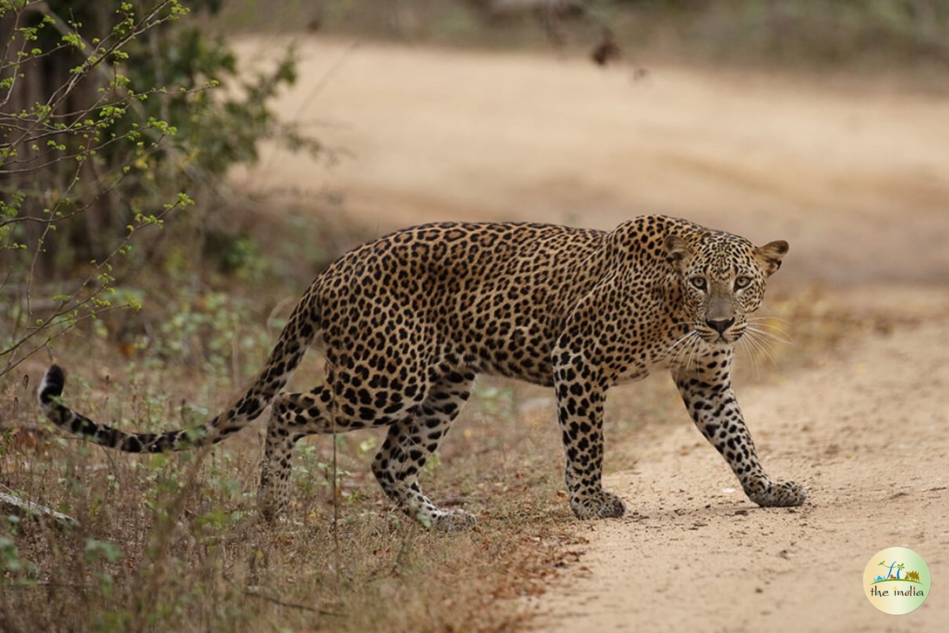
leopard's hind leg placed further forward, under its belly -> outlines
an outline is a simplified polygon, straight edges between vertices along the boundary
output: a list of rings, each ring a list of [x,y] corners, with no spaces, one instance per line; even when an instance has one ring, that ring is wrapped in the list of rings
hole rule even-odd
[[[389,427],[372,464],[372,472],[386,495],[420,523],[437,530],[464,530],[474,525],[474,515],[438,509],[419,486],[419,472],[468,400],[473,382],[474,372],[442,368],[431,382],[419,413]]]

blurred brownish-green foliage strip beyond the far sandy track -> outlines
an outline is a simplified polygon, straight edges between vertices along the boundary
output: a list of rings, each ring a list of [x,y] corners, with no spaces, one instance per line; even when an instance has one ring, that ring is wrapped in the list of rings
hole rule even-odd
[[[586,47],[608,28],[629,53],[689,61],[949,65],[949,0],[235,0],[217,22],[507,48]]]

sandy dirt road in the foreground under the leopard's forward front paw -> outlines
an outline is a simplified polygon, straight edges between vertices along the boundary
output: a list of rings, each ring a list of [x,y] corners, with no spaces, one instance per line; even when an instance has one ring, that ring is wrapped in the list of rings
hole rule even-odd
[[[772,475],[808,503],[759,510],[686,424],[646,431],[635,471],[606,485],[621,520],[584,524],[585,569],[525,605],[545,631],[902,631],[949,622],[949,364],[936,323],[739,395]],[[939,307],[937,306],[937,309]],[[886,615],[866,600],[876,552],[921,554],[933,594]],[[940,579],[943,579],[940,582]]]

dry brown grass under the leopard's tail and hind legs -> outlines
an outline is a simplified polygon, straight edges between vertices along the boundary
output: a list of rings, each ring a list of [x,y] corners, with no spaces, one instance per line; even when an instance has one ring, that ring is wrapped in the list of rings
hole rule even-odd
[[[75,351],[70,357],[80,358]],[[180,369],[161,372],[172,393],[135,374],[76,380],[96,375],[92,363],[72,373],[67,394],[77,408],[101,419],[123,410],[124,418],[154,418],[155,426],[180,423],[167,414],[192,396],[182,385],[195,384]],[[10,386],[5,400],[28,402],[30,391]],[[539,579],[556,571],[570,523],[558,494],[562,457],[552,412],[540,414],[532,398],[523,400],[506,384],[483,384],[424,474],[434,498],[478,514],[479,526],[459,534],[425,531],[392,510],[368,474],[378,433],[337,438],[335,509],[332,440],[301,442],[294,502],[285,521],[270,528],[254,514],[259,423],[214,451],[172,456],[126,456],[46,431],[8,432],[0,443],[4,485],[81,527],[3,521],[0,628],[408,631],[512,624],[516,614],[497,601],[537,591]],[[14,425],[34,426],[36,418],[21,404]]]

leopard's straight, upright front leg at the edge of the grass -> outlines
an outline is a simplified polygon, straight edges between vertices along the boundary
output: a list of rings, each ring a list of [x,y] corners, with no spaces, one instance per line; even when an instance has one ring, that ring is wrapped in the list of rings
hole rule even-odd
[[[570,509],[581,519],[623,516],[623,499],[603,489],[605,381],[583,354],[569,351],[566,339],[561,339],[553,358]]]

